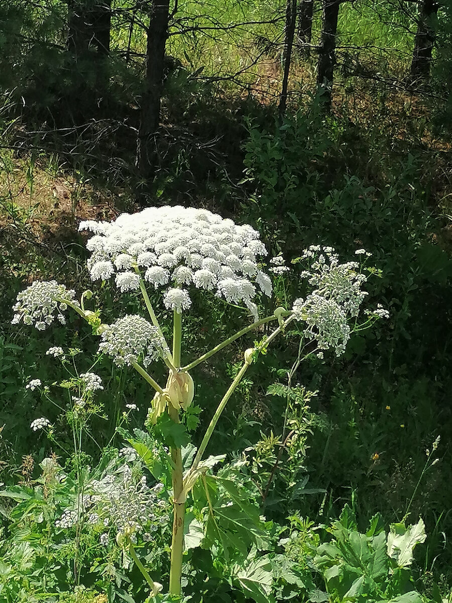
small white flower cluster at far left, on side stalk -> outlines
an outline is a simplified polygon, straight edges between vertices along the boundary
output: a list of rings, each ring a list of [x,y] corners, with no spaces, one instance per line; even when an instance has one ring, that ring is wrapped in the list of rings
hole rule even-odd
[[[58,285],[55,280],[35,281],[32,285],[20,291],[17,295],[17,303],[14,304],[12,324],[34,324],[36,329],[44,330],[55,320],[55,316],[61,324],[66,323],[66,318],[61,314],[67,305],[61,300],[69,300],[75,305],[75,291],[66,289],[64,285]]]

